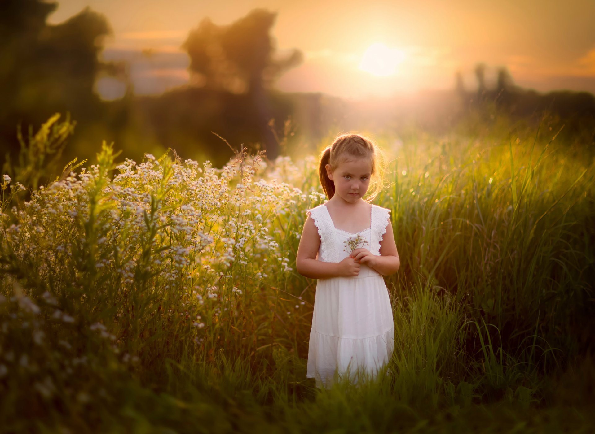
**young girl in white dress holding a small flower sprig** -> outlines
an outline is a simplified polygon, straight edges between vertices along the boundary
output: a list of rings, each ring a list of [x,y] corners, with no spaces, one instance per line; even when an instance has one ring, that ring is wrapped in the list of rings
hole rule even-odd
[[[359,134],[343,134],[321,153],[318,174],[328,201],[306,212],[296,257],[297,272],[318,279],[306,373],[318,388],[330,388],[336,373],[374,376],[393,353],[382,275],[399,269],[399,253],[390,211],[369,203],[383,188],[378,153]],[[372,176],[374,189],[364,200]]]

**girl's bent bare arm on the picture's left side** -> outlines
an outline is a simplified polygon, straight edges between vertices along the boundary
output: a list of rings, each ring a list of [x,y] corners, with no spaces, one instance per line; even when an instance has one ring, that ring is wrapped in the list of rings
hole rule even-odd
[[[320,235],[314,220],[307,218],[297,247],[296,270],[311,279],[326,279],[338,276],[338,262],[322,262],[316,259],[320,247]]]

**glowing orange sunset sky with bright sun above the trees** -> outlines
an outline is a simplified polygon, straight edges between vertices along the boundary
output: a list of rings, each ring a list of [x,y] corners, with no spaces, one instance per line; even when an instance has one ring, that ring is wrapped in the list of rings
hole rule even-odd
[[[50,23],[86,6],[108,18],[104,58],[130,62],[137,93],[187,82],[179,47],[203,18],[230,24],[253,8],[278,12],[280,54],[305,56],[278,80],[281,90],[390,96],[452,88],[456,70],[471,89],[484,62],[488,79],[506,66],[522,87],[595,93],[595,0],[60,0]]]

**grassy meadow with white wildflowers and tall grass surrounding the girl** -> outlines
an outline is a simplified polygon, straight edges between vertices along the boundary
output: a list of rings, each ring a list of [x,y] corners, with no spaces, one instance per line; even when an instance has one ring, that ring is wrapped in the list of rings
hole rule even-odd
[[[104,143],[37,180],[65,127],[1,180],[0,432],[595,430],[592,144],[498,122],[378,137],[394,354],[321,391],[316,281],[295,270],[316,156],[215,168]]]

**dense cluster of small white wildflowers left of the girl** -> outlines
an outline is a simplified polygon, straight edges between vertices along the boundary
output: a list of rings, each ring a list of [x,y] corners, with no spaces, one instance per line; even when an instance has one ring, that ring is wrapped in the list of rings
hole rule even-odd
[[[311,163],[308,170],[314,172]],[[292,186],[300,180],[303,185],[304,172],[289,158],[278,158],[257,178],[265,167],[258,156],[218,169],[208,161],[201,167],[146,155],[142,163],[126,159],[109,179],[105,168],[91,165],[33,191],[22,209],[12,209],[16,224],[0,216],[5,229],[0,243],[17,260],[43,258],[37,272],[44,279],[64,270],[70,272],[62,276],[82,276],[74,286],[86,284],[86,276],[72,271],[88,271],[87,263],[93,273],[119,276],[123,291],[139,279],[181,291],[212,288],[223,275],[231,281],[240,275],[278,278],[279,272],[293,271],[295,250],[286,247],[295,237],[278,229],[279,219],[287,221],[301,202],[320,202],[324,195]]]

